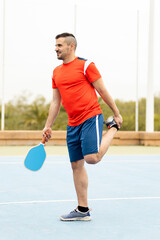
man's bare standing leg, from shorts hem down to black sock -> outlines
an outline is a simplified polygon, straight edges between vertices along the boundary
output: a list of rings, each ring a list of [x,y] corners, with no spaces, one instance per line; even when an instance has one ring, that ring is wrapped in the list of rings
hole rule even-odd
[[[77,193],[78,206],[88,207],[87,189],[88,176],[84,167],[84,160],[72,162],[73,179]]]

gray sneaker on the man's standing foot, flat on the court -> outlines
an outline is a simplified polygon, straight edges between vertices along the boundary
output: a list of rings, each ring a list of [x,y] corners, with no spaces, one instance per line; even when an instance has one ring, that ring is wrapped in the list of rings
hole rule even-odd
[[[72,212],[66,215],[62,215],[60,217],[62,221],[90,221],[90,210],[86,213],[78,211],[78,209],[74,209]]]

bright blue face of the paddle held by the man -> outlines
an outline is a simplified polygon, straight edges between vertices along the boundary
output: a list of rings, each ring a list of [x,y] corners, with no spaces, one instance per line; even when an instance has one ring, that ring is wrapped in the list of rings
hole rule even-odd
[[[46,158],[46,152],[44,150],[44,144],[40,143],[38,146],[31,148],[28,152],[24,165],[27,169],[32,171],[39,170]]]

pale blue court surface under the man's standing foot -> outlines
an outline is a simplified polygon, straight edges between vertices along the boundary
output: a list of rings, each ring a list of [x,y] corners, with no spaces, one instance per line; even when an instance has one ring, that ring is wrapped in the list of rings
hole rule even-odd
[[[160,155],[109,155],[86,165],[90,222],[62,222],[76,207],[67,155],[32,173],[24,156],[0,157],[2,240],[159,240]]]

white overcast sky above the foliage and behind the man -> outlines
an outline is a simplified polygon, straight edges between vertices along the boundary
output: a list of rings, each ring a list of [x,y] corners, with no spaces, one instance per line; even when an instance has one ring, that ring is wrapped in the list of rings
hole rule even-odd
[[[74,7],[77,6],[76,25]],[[93,61],[114,99],[135,101],[137,10],[138,97],[147,96],[149,0],[5,0],[5,102],[25,95],[52,99],[55,36],[76,35],[76,56]],[[0,2],[0,100],[3,1]],[[160,95],[160,1],[155,0],[154,94]],[[75,28],[76,26],[76,28]]]

